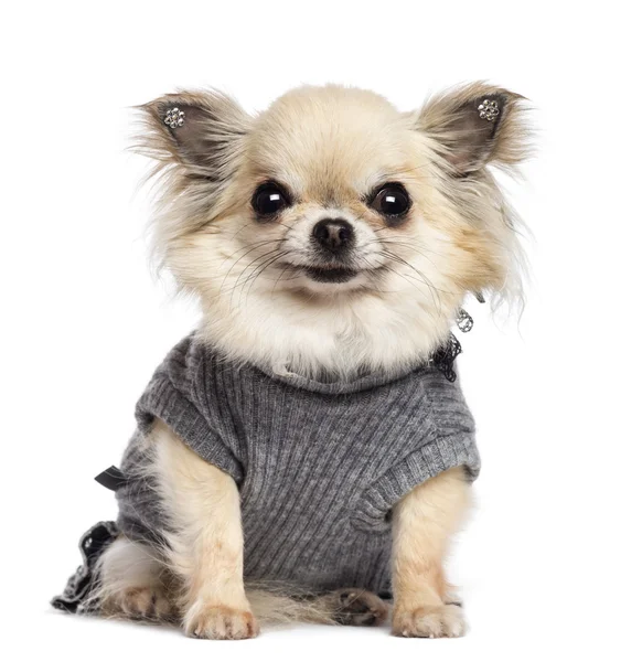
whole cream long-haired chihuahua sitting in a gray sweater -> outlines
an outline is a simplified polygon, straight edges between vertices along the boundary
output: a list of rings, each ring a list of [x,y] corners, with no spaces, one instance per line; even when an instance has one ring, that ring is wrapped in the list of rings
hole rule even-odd
[[[377,624],[392,597],[395,634],[463,634],[443,560],[479,456],[436,356],[468,295],[520,297],[489,167],[526,156],[522,97],[475,83],[400,113],[329,85],[141,114],[157,253],[202,321],[137,406],[85,609],[245,639]]]

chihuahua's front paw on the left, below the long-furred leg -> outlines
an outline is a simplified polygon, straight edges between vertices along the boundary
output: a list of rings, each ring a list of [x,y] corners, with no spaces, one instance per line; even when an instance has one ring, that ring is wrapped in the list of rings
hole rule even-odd
[[[249,607],[195,605],[185,617],[185,634],[196,639],[253,639],[258,634],[258,623]]]

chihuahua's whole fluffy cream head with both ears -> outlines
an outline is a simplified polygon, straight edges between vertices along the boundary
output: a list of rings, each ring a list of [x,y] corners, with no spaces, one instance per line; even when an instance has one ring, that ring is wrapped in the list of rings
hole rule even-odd
[[[484,84],[399,113],[302,87],[249,116],[214,92],[143,108],[167,175],[164,264],[236,357],[298,372],[411,363],[469,292],[505,295],[518,247],[489,164],[525,156],[521,97]]]

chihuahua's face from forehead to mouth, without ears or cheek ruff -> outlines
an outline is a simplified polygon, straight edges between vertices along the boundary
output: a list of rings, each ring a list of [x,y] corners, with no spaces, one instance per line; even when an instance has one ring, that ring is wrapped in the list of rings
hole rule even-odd
[[[274,241],[278,288],[385,296],[404,271],[396,253],[407,255],[405,244],[427,229],[418,137],[384,99],[361,90],[296,90],[259,118],[240,195],[252,189],[247,244]]]

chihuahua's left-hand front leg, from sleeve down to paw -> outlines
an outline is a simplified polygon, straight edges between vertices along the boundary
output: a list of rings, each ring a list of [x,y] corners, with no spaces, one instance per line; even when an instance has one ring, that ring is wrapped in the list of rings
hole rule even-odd
[[[154,473],[169,515],[169,562],[183,584],[192,637],[247,639],[258,627],[243,585],[240,504],[234,480],[157,421]]]

